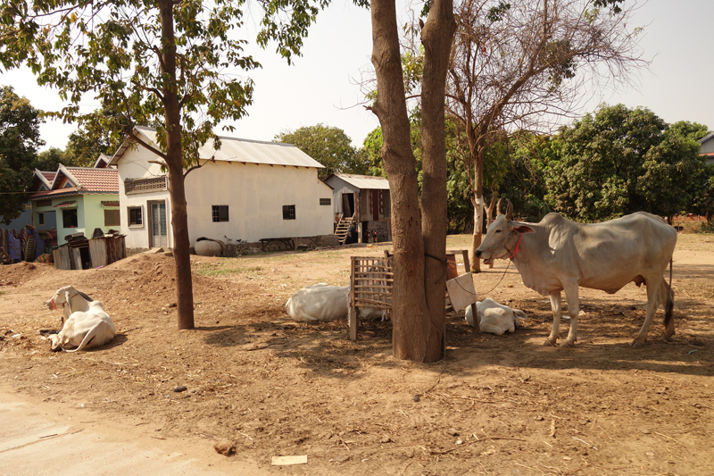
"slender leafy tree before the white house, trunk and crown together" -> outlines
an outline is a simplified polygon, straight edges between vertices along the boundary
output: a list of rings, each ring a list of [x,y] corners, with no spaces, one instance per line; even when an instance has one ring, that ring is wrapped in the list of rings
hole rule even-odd
[[[258,43],[267,46],[276,38],[278,53],[289,62],[325,4],[261,2]],[[155,153],[168,173],[171,196],[179,329],[194,328],[184,177],[195,170],[199,146],[209,140],[220,146],[214,132],[219,123],[240,119],[252,103],[253,83],[226,74],[258,66],[234,33],[247,8],[228,0],[34,0],[0,6],[0,63],[27,63],[40,84],[58,88],[71,104],[56,115],[80,125],[94,120],[96,113],[87,118],[79,112],[82,97],[93,94],[115,112],[112,127],[138,146],[148,145],[131,134],[133,126],[156,128],[161,150]]]

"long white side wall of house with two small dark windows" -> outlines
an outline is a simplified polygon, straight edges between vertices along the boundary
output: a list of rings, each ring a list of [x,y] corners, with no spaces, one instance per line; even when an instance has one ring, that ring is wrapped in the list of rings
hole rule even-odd
[[[333,232],[332,203],[320,205],[332,190],[318,180],[316,169],[207,163],[187,175],[186,188],[192,245],[200,237],[255,242]],[[228,205],[228,221],[212,221],[213,205]],[[283,219],[283,205],[295,205],[295,220]]]

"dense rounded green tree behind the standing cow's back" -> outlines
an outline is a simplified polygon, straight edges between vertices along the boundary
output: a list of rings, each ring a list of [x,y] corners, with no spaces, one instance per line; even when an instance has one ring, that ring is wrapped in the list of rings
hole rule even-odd
[[[602,106],[560,131],[560,157],[544,169],[546,200],[579,221],[636,211],[671,217],[698,193],[700,134],[684,123],[670,128],[646,108]]]

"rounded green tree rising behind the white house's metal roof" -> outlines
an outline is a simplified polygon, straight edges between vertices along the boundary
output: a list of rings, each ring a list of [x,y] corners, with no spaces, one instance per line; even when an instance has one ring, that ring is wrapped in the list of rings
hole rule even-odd
[[[352,146],[352,139],[343,129],[324,124],[302,127],[277,134],[274,140],[293,144],[325,166],[320,170],[320,179],[333,172],[365,174],[368,164]]]

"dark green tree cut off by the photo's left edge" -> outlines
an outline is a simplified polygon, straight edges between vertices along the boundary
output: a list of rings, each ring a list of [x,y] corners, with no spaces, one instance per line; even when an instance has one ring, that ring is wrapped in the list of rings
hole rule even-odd
[[[0,88],[0,216],[9,224],[22,213],[23,192],[32,181],[39,138],[40,111],[10,86]]]

